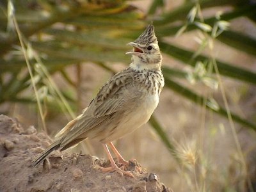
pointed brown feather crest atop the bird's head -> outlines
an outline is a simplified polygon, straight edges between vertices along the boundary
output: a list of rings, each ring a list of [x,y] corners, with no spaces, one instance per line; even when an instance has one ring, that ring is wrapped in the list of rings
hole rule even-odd
[[[136,44],[157,44],[157,38],[152,22],[148,25],[147,29],[134,41]]]

